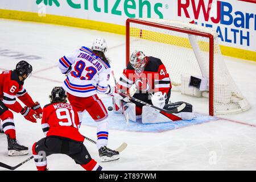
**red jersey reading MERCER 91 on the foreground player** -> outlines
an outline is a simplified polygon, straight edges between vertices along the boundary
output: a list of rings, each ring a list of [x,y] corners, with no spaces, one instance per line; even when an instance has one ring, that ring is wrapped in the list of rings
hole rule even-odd
[[[44,106],[42,129],[47,137],[59,136],[84,142],[78,125],[79,116],[70,104],[53,103]]]

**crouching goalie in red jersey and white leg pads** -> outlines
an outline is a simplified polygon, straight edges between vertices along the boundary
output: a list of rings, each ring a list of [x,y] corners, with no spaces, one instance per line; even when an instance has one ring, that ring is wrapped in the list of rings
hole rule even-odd
[[[137,89],[133,94],[134,98],[161,109],[174,109],[174,107],[184,103],[168,104],[172,86],[166,67],[160,59],[145,56],[142,51],[134,51],[131,55],[130,62],[123,70],[123,74],[116,85],[117,92],[126,93],[133,84]],[[127,97],[123,98],[119,94],[114,94],[114,96],[117,105],[118,100],[124,100],[122,103],[125,114],[129,116],[131,121],[137,121],[141,118],[142,123],[162,123],[193,118],[192,105],[188,103],[185,103],[186,106],[180,113],[167,114],[137,101],[129,102]]]

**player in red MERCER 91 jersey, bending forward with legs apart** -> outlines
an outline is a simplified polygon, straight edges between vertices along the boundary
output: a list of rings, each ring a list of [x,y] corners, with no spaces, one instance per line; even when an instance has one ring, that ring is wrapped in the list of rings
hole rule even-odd
[[[47,170],[46,157],[65,154],[86,171],[101,171],[102,167],[90,157],[79,133],[79,115],[67,104],[65,90],[56,86],[51,92],[51,104],[43,107],[42,129],[46,138],[34,143],[32,152],[38,171]]]

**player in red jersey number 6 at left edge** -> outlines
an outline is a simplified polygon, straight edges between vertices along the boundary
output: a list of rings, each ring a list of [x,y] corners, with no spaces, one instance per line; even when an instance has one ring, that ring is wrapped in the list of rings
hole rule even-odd
[[[13,71],[3,71],[0,74],[0,119],[2,130],[7,136],[10,156],[28,154],[28,148],[16,140],[14,115],[10,110],[22,114],[25,119],[34,123],[36,118],[42,118],[40,104],[32,100],[23,86],[24,80],[31,72],[32,66],[26,61],[20,61]],[[26,106],[22,107],[15,97]]]

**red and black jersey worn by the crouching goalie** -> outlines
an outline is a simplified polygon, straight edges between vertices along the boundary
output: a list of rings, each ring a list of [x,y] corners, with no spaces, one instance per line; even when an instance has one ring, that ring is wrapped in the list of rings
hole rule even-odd
[[[156,57],[147,57],[147,64],[144,71],[138,75],[131,64],[123,70],[118,81],[117,88],[126,92],[133,84],[142,93],[166,92],[171,89],[171,80],[162,61]]]

